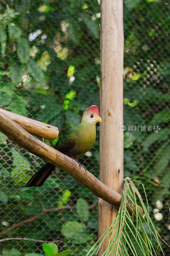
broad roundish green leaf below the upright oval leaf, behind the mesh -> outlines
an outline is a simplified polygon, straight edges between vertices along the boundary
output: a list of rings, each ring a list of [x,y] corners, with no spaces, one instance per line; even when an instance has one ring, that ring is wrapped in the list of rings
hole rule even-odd
[[[93,239],[93,236],[87,232],[86,226],[78,221],[67,221],[61,228],[61,232],[75,244],[83,244]]]

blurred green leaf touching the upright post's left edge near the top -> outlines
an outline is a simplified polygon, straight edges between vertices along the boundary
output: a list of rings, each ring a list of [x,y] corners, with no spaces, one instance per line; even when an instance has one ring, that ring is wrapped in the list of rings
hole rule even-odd
[[[90,17],[86,16],[85,14],[81,15],[86,27],[89,29],[89,31],[92,33],[92,35],[96,38],[100,38],[100,27],[99,24],[94,20],[91,20]]]

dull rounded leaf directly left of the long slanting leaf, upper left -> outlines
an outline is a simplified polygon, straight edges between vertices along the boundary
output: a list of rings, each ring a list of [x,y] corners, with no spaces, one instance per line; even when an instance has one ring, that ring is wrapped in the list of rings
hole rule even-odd
[[[25,67],[18,65],[18,64],[11,64],[10,65],[10,76],[11,76],[11,81],[14,84],[18,84],[22,80],[22,76],[24,75],[25,72]]]

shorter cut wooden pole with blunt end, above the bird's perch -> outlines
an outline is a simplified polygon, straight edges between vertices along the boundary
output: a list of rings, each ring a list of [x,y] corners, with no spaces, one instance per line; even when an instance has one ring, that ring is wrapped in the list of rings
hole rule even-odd
[[[54,140],[58,137],[58,128],[50,124],[45,124],[34,119],[15,114],[13,112],[0,108],[0,112],[10,117],[13,121],[19,124],[24,130],[32,135],[45,138],[47,140]]]

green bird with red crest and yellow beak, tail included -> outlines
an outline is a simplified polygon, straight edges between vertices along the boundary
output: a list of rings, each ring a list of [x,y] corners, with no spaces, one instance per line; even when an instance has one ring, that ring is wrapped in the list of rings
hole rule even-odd
[[[55,149],[63,154],[78,160],[79,156],[87,152],[96,139],[96,123],[101,122],[99,109],[91,106],[83,113],[80,124],[68,128],[55,144]],[[79,162],[78,162],[79,163]],[[81,164],[79,163],[81,168]],[[48,178],[55,166],[50,163],[44,164],[28,181],[26,187],[40,187]]]

